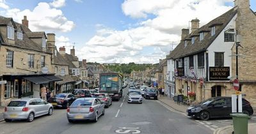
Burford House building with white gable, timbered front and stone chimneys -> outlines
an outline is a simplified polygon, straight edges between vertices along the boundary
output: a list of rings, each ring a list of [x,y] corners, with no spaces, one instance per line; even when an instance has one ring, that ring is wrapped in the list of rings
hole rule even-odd
[[[241,93],[256,107],[256,42],[253,40],[256,16],[249,0],[234,3],[234,8],[202,27],[198,19],[192,20],[191,33],[182,29],[182,39],[170,54],[170,59],[175,61],[176,94],[188,96],[189,92],[195,92],[196,101],[234,94],[236,43],[239,43],[243,46],[238,47]]]

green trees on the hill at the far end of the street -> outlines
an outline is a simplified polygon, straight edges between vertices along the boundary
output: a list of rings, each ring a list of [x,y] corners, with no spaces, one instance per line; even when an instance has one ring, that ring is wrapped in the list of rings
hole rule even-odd
[[[132,71],[145,71],[147,68],[153,68],[153,64],[116,64],[109,65],[107,68],[110,71],[120,72],[120,73],[131,73]]]

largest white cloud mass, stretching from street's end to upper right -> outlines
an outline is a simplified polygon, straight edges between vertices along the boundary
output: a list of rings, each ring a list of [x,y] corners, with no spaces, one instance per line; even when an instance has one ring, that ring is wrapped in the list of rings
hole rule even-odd
[[[198,18],[203,26],[230,10],[227,2],[232,0],[125,0],[124,15],[138,24],[124,31],[98,24],[97,34],[77,54],[100,63],[159,63],[180,42],[190,20]]]

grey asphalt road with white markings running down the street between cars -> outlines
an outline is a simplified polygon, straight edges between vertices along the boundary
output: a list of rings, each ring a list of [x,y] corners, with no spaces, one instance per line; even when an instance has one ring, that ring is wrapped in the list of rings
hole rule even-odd
[[[125,91],[126,92],[126,91]],[[124,93],[125,94],[125,93]],[[36,118],[32,123],[13,121],[0,123],[1,133],[168,133],[207,134],[212,130],[188,117],[173,112],[156,100],[143,100],[142,104],[127,103],[127,96],[106,108],[106,114],[97,123],[84,121],[68,123],[65,109],[56,109],[51,116]]]

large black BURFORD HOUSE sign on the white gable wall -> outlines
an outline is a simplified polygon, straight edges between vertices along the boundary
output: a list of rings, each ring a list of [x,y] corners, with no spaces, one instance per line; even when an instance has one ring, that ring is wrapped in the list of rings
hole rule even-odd
[[[209,67],[209,80],[228,80],[228,76],[230,76],[229,66]]]

